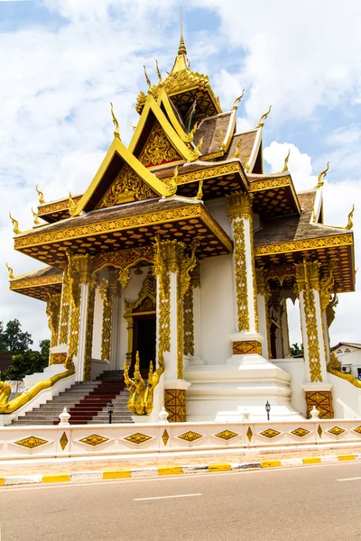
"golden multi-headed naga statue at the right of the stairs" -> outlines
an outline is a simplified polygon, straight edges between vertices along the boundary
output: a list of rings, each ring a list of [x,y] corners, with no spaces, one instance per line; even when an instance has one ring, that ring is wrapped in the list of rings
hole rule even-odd
[[[126,407],[135,415],[149,415],[153,411],[153,393],[158,381],[164,371],[163,362],[159,363],[159,368],[153,372],[153,362],[149,365],[148,381],[145,386],[141,372],[139,370],[140,360],[139,352],[135,355],[134,378],[129,378],[128,365],[125,361],[124,379],[126,389],[130,392],[130,397]]]

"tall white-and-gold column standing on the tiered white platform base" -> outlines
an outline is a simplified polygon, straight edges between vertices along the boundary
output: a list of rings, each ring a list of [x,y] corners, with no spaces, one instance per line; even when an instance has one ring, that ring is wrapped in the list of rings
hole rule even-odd
[[[233,226],[234,265],[236,280],[237,332],[258,335],[257,288],[252,196],[234,192],[227,196],[227,213]],[[255,339],[233,342],[233,353],[261,353],[261,343]]]

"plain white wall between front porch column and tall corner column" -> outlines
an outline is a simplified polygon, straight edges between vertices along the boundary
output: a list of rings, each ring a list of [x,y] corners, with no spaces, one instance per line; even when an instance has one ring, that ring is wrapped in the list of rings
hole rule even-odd
[[[232,256],[210,257],[200,265],[200,353],[206,364],[232,355],[234,330]]]

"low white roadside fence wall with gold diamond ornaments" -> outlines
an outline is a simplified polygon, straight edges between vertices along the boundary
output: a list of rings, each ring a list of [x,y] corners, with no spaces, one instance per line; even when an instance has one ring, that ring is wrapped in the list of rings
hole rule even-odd
[[[244,423],[4,426],[0,460],[361,444],[361,419]]]

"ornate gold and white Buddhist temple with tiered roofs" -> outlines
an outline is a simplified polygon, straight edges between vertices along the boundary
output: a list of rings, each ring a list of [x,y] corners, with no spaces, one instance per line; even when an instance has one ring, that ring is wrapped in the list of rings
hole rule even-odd
[[[12,217],[14,249],[42,267],[10,270],[10,289],[44,303],[51,357],[1,412],[44,385],[112,371],[130,412],[153,420],[162,408],[173,422],[263,419],[267,401],[278,420],[314,407],[333,417],[342,393],[359,392],[334,382],[329,344],[338,295],[355,290],[352,213],[345,227],[323,223],[327,170],[301,193],[288,157],[264,173],[271,107],[238,132],[242,96],[222,110],[182,35],[170,74],[158,77],[146,75],[128,146],[112,105],[114,138],[85,193],[45,201],[37,188],[33,228]],[[301,359],[290,353],[289,298],[300,304]]]

